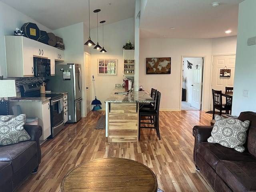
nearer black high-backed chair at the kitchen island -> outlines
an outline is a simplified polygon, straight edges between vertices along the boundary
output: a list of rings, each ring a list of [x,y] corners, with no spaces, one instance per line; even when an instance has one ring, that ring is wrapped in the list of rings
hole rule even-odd
[[[160,98],[161,98],[161,93],[159,91],[157,91],[155,108],[144,108],[144,107],[140,108],[140,110],[139,110],[139,135],[138,135],[139,139],[140,139],[140,129],[141,128],[150,128],[150,129],[154,128],[154,129],[156,129],[158,139],[161,140],[160,132],[159,132]],[[149,122],[149,120],[150,120],[150,122]],[[141,124],[149,124],[151,126],[141,126]]]

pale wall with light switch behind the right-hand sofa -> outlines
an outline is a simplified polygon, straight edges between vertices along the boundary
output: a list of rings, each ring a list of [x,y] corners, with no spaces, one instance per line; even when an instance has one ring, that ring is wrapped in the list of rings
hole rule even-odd
[[[235,116],[238,116],[242,111],[256,112],[256,45],[247,46],[247,39],[256,36],[255,7],[255,0],[245,0],[239,4],[236,70],[232,104],[232,114]],[[249,97],[242,96],[243,90],[249,91]]]

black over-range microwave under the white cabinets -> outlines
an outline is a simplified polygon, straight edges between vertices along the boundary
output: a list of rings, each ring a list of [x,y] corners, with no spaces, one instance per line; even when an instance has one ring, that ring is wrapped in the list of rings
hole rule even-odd
[[[33,57],[34,59],[34,76],[48,77],[51,76],[51,60],[40,57]]]

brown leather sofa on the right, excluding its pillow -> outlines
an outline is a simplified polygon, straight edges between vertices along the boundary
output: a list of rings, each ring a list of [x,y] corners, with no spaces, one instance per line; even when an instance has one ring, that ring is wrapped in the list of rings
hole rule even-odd
[[[250,121],[245,151],[207,142],[213,126],[194,126],[194,163],[216,192],[256,191],[256,113],[241,112]]]

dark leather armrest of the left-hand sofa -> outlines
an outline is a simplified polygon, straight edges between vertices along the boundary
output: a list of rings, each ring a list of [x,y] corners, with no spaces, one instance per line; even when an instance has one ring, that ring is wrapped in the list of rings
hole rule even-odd
[[[41,147],[40,137],[42,136],[42,127],[40,125],[24,125],[24,129],[28,132],[31,137],[31,141],[36,141],[37,144],[37,162],[38,165],[41,162]]]

